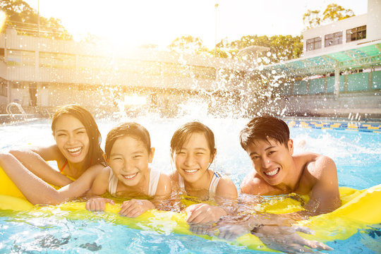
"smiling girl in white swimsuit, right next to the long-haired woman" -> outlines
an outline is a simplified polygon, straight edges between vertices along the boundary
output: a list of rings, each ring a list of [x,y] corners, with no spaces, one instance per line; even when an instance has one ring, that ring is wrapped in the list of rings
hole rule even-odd
[[[122,198],[138,198],[123,202],[120,214],[138,217],[146,210],[155,208],[154,203],[168,198],[171,193],[169,176],[149,167],[155,148],[151,147],[150,133],[138,123],[123,123],[107,134],[106,158],[109,167],[104,168],[92,184],[93,195],[111,195]],[[146,198],[153,198],[152,201]],[[108,198],[91,198],[87,210],[103,211]]]

